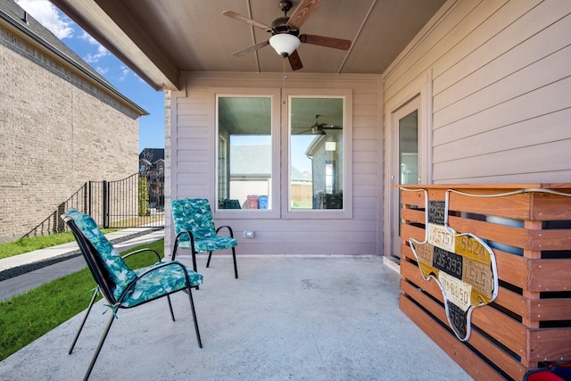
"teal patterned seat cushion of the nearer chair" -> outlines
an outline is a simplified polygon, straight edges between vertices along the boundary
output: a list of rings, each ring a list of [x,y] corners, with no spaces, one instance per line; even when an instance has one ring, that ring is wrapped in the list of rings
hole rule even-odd
[[[165,266],[165,263],[168,263],[168,265]],[[120,305],[127,308],[134,307],[137,304],[148,302],[165,294],[171,294],[186,288],[185,272],[180,265],[185,266],[179,261],[170,261],[157,262],[151,266],[136,269],[135,272],[137,276],[139,276],[149,269],[162,266],[140,277]],[[186,266],[185,268],[191,286],[203,284],[203,276],[201,274],[194,272]]]

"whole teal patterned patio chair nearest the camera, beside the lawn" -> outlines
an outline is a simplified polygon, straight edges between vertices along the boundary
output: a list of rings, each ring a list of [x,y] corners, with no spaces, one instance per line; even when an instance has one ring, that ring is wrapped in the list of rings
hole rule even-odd
[[[112,246],[107,238],[103,236],[95,220],[89,215],[83,214],[75,209],[70,209],[65,212],[62,215],[62,219],[66,222],[78,242],[79,250],[87,261],[87,267],[91,271],[91,275],[97,284],[91,302],[89,302],[87,312],[79,326],[78,333],[75,335],[73,344],[71,344],[70,354],[78,341],[79,334],[86,323],[87,316],[98,294],[101,293],[103,295],[106,302],[105,305],[112,310],[84,380],[87,380],[91,374],[95,361],[103,347],[105,338],[111,329],[113,320],[117,318],[117,312],[120,309],[137,307],[146,302],[151,302],[166,296],[169,303],[170,318],[174,321],[175,316],[172,311],[169,295],[178,291],[184,291],[188,294],[190,310],[194,320],[196,341],[200,348],[203,347],[200,332],[198,331],[193,295],[191,292],[192,288],[202,284],[202,275],[197,274],[192,269],[187,269],[186,266],[179,261],[161,261],[159,253],[152,249],[137,250],[136,252],[128,253],[121,257],[119,252]],[[142,269],[130,269],[127,263],[123,261],[124,258],[128,256],[145,252],[154,253],[157,257],[157,262]]]

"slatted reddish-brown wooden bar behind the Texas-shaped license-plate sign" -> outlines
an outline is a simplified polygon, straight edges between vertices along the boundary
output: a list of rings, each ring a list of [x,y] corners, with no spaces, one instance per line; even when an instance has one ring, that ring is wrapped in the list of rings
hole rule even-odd
[[[571,197],[555,194],[571,195],[571,184],[407,188],[426,189],[429,201],[444,201],[449,189],[468,194],[450,194],[449,226],[502,250],[492,246],[497,297],[473,311],[471,335],[461,342],[441,289],[422,277],[409,244],[425,239],[425,194],[401,190],[401,311],[477,380],[521,380],[530,369],[571,362]],[[496,218],[521,226],[492,223]]]

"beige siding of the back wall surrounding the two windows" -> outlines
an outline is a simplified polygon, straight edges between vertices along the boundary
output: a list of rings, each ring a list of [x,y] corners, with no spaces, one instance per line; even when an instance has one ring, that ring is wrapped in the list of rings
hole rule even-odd
[[[239,241],[240,254],[377,254],[377,218],[382,170],[379,164],[380,142],[378,140],[382,104],[378,92],[377,76],[321,76],[291,74],[285,82],[286,92],[296,89],[349,90],[352,94],[352,217],[320,219],[303,217],[284,218],[279,209],[287,202],[282,194],[281,204],[275,203],[278,211],[273,217],[242,217],[216,219],[217,226],[230,225]],[[167,136],[167,156],[171,156],[170,181],[172,199],[185,197],[207,197],[215,200],[216,181],[216,137],[215,137],[215,95],[216,89],[236,92],[240,89],[267,88],[278,92],[283,88],[283,75],[274,74],[220,74],[192,73],[185,79],[185,88],[171,93],[172,133]],[[319,90],[320,89],[320,90]],[[313,91],[313,90],[312,90]],[[329,93],[327,93],[329,94]],[[274,112],[283,113],[282,110]],[[286,109],[285,109],[286,110]],[[279,115],[278,120],[286,120]],[[284,131],[286,125],[280,129]],[[282,133],[282,137],[283,137]],[[280,158],[280,149],[275,157]],[[284,163],[280,168],[285,167]],[[282,172],[284,172],[282,170]],[[285,181],[286,173],[275,173],[276,186],[279,178]],[[216,216],[215,216],[216,218]],[[173,240],[170,213],[166,223],[166,246]],[[255,238],[244,239],[244,230],[254,230]]]

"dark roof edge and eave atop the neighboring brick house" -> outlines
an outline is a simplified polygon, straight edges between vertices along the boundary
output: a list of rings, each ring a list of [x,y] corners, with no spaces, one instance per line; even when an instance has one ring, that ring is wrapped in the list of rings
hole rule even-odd
[[[122,95],[101,74],[13,0],[0,0],[0,27],[8,29],[20,37],[24,37],[31,44],[46,52],[51,58],[69,66],[83,78],[102,88],[105,92],[119,100],[121,104],[125,104],[129,109],[137,112],[137,114],[149,114],[149,112],[146,112],[125,95]]]

